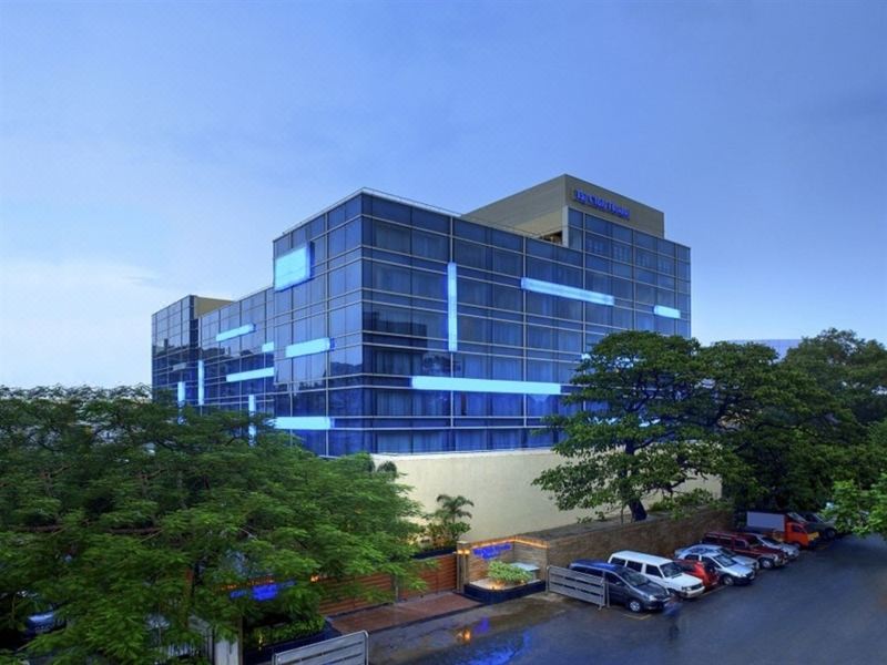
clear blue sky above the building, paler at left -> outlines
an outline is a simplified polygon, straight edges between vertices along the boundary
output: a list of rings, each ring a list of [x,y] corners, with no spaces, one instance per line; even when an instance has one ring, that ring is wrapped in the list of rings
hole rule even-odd
[[[665,212],[703,341],[887,341],[887,3],[0,3],[0,383],[150,380],[361,186]]]

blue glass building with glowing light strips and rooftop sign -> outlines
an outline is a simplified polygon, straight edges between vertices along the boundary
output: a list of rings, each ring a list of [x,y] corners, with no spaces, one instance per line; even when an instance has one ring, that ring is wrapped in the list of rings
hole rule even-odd
[[[274,241],[272,286],[153,315],[153,387],[323,456],[546,448],[615,330],[690,335],[661,212],[563,175],[466,215],[363,190]]]

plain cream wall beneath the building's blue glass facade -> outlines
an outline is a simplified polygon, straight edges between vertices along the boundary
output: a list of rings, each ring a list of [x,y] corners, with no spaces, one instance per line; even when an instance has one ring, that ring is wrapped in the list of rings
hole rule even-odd
[[[560,511],[553,499],[532,485],[539,474],[562,462],[551,450],[507,450],[445,454],[376,454],[377,464],[391,461],[412,487],[411,497],[426,512],[438,508],[437,497],[461,494],[475,502],[469,508],[471,531],[462,540],[507,538],[516,533],[574,524],[592,511]],[[691,483],[720,495],[717,482]]]

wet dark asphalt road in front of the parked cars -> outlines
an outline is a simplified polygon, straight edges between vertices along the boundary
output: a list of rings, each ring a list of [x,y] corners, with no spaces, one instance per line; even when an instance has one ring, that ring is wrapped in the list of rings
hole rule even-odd
[[[662,614],[631,615],[536,594],[371,638],[370,662],[863,664],[887,663],[887,543],[846,538],[746,587],[682,604],[680,633]]]

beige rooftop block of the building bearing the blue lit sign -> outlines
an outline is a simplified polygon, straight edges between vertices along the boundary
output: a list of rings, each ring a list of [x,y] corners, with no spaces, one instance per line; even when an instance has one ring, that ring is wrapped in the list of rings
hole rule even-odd
[[[479,207],[465,217],[537,237],[561,234],[565,241],[568,207],[665,237],[662,211],[567,174]]]

